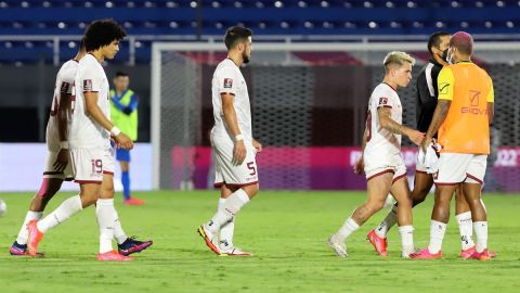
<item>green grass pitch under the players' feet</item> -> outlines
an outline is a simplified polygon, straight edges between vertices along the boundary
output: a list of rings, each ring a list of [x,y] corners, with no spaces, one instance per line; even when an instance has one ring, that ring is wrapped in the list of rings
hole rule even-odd
[[[251,258],[219,257],[196,228],[216,211],[214,191],[140,193],[143,207],[117,208],[129,235],[155,244],[131,263],[100,263],[94,208],[50,230],[44,258],[12,257],[8,249],[25,216],[30,193],[0,194],[9,206],[0,218],[0,292],[520,292],[520,196],[484,194],[492,262],[460,260],[453,209],[444,259],[401,259],[398,229],[389,256],[375,255],[366,233],[386,215],[376,214],[347,242],[349,256],[325,244],[364,192],[261,191],[236,220],[235,244]],[[61,193],[54,208],[70,193]],[[415,244],[429,239],[432,196],[414,209]]]

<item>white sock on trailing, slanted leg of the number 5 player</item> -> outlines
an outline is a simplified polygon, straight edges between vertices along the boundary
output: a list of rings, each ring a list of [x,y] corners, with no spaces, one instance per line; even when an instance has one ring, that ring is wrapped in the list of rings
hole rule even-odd
[[[225,200],[222,209],[217,211],[211,220],[205,227],[211,233],[217,233],[220,227],[231,220],[242,209],[242,207],[249,202],[249,196],[243,189],[233,192],[230,198]]]

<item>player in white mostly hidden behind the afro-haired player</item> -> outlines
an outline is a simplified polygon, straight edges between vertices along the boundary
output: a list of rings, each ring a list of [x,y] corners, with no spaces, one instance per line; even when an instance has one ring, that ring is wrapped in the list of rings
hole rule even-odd
[[[43,182],[38,193],[32,198],[18,235],[9,250],[11,255],[27,254],[27,224],[30,220],[39,220],[42,217],[43,209],[52,196],[60,190],[64,180],[74,179],[68,152],[70,102],[74,99],[74,77],[76,76],[79,61],[86,53],[84,43],[81,40],[76,56],[65,62],[57,72],[51,114],[47,123],[46,141],[48,154],[43,170]]]

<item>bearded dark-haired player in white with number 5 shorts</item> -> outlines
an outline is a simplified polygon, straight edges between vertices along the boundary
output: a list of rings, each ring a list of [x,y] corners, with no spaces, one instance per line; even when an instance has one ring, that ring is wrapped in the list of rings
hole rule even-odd
[[[235,216],[259,190],[255,155],[262,145],[252,138],[249,95],[239,68],[251,58],[251,36],[250,29],[240,26],[225,31],[227,58],[219,63],[211,81],[214,187],[220,188],[221,198],[217,213],[198,232],[218,255],[252,255],[233,244]]]

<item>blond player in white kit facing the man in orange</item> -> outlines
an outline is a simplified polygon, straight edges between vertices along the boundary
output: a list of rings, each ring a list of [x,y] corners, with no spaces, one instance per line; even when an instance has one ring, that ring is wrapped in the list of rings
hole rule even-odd
[[[359,206],[343,226],[328,239],[328,245],[338,256],[347,256],[344,241],[372,215],[380,211],[390,192],[399,203],[398,224],[402,239],[402,257],[414,253],[412,199],[406,179],[406,166],[401,156],[401,136],[415,144],[422,142],[424,133],[402,125],[403,110],[398,95],[399,87],[412,79],[415,60],[404,52],[390,52],[384,61],[385,78],[368,101],[366,128],[363,136],[363,156],[354,166],[365,171],[367,201]]]

